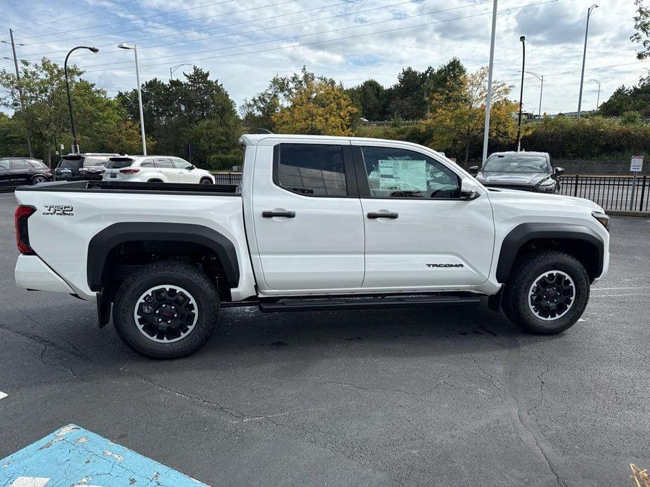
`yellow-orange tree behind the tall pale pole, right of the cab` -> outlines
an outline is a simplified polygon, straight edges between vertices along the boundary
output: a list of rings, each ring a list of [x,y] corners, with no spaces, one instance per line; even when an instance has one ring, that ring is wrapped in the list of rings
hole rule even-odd
[[[467,162],[473,147],[480,144],[485,125],[488,69],[482,67],[473,74],[464,74],[460,90],[453,93],[440,91],[431,95],[431,114],[427,126],[433,135],[433,143],[440,149],[464,152]],[[514,140],[516,122],[512,114],[517,104],[508,100],[512,86],[494,82],[492,85],[492,109],[490,112],[490,138],[498,144]]]

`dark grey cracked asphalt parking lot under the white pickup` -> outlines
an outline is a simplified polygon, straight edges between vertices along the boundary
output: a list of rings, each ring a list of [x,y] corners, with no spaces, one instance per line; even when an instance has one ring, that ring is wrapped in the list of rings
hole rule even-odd
[[[0,458],[74,423],[212,486],[631,486],[650,467],[650,220],[613,218],[610,274],[562,335],[484,306],[227,309],[197,354],[152,361],[93,303],[15,287],[14,207],[0,194]]]

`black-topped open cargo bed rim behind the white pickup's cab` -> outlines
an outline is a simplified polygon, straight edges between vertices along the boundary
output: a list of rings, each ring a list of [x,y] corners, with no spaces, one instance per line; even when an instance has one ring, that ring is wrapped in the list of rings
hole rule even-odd
[[[190,185],[178,182],[55,181],[34,186],[19,186],[16,191],[171,193],[240,196],[238,185]]]

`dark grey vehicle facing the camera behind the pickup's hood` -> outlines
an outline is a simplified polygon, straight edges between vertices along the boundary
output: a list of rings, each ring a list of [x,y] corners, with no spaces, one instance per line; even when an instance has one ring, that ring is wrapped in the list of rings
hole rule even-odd
[[[563,168],[554,166],[547,152],[495,152],[482,168],[472,166],[483,186],[559,193]]]

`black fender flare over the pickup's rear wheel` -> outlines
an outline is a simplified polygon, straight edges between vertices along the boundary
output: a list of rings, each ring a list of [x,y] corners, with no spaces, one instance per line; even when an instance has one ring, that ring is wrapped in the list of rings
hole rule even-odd
[[[221,261],[228,287],[236,288],[240,281],[239,261],[235,245],[216,230],[191,223],[120,222],[93,236],[86,258],[86,278],[91,291],[101,291],[108,254],[119,244],[137,241],[164,241],[200,244],[214,251]]]

